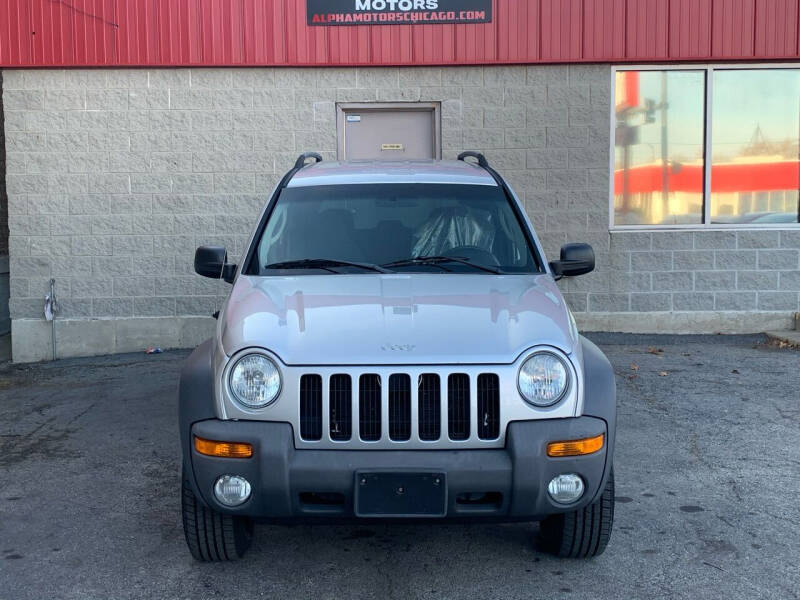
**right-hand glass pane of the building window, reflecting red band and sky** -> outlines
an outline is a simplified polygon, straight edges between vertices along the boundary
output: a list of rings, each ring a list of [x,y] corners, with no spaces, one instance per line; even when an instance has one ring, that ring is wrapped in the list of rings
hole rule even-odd
[[[800,71],[715,71],[711,119],[711,222],[797,223]]]

